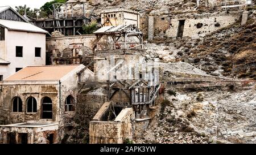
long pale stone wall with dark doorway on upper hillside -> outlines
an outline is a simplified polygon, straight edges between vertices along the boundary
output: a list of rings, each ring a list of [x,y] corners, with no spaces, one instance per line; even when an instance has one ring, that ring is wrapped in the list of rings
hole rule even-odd
[[[141,31],[152,40],[154,36],[176,37],[179,20],[185,20],[183,37],[203,37],[213,31],[227,27],[240,19],[240,13],[225,14],[181,14],[170,16],[142,16]],[[219,25],[218,25],[219,24]]]

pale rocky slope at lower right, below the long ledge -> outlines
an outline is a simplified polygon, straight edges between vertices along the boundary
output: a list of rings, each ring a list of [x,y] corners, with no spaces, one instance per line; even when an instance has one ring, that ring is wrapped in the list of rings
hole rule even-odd
[[[256,143],[255,91],[177,92],[137,143]]]

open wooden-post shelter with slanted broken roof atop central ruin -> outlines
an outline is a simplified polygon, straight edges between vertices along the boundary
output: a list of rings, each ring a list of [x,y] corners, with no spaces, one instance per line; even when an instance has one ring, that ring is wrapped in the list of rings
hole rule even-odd
[[[97,37],[97,51],[143,49],[143,33],[135,25],[102,27],[94,35]]]

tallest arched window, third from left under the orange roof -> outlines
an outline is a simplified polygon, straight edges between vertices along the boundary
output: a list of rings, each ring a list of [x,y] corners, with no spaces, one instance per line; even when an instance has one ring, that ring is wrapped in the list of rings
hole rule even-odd
[[[43,98],[42,118],[43,119],[52,119],[52,100],[49,97]]]

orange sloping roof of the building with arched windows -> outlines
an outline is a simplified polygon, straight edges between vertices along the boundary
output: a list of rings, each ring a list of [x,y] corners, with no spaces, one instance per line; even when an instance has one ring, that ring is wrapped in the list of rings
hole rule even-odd
[[[63,76],[74,70],[77,65],[61,66],[31,66],[23,68],[15,74],[9,76],[5,81],[44,81],[60,80]]]

